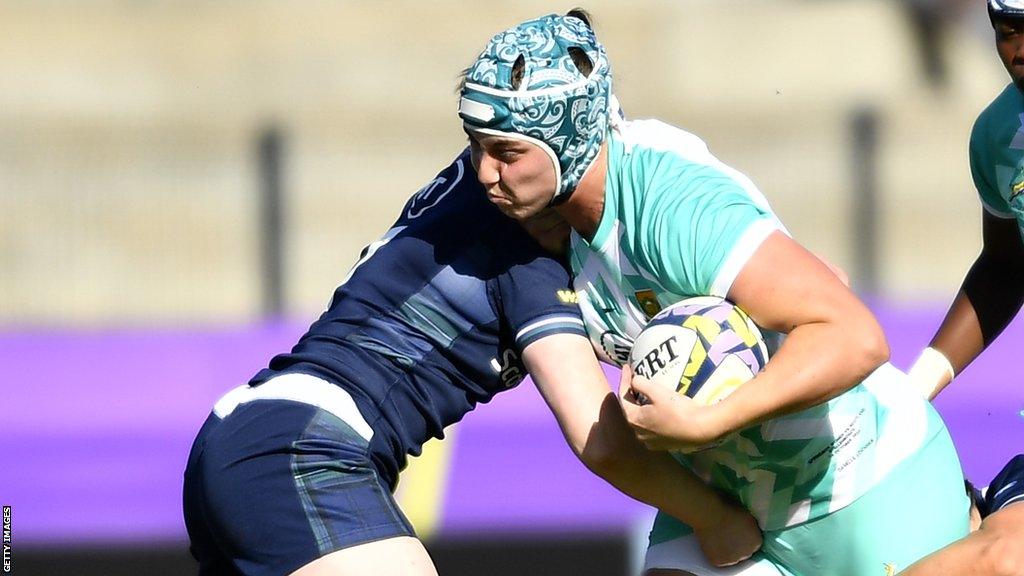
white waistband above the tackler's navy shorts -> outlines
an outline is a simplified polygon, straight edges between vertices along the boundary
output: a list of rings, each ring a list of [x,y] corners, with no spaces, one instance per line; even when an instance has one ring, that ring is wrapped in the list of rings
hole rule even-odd
[[[315,406],[341,418],[367,442],[374,437],[374,429],[344,388],[308,374],[282,374],[258,386],[242,384],[218,400],[213,413],[224,419],[240,404],[254,400],[290,400]]]

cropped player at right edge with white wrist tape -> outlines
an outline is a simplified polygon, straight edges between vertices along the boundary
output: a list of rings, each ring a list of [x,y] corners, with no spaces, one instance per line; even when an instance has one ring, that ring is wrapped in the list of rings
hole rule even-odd
[[[971,174],[981,199],[981,254],[910,369],[935,398],[1002,332],[1024,302],[1024,1],[988,0],[995,51],[1012,82],[975,121]]]

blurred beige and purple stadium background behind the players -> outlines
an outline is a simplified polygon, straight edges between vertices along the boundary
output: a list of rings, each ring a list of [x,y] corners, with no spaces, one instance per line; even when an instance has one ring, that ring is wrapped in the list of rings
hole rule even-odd
[[[457,75],[486,39],[570,7],[0,0],[13,573],[193,570],[180,477],[213,401],[294,342],[465,146]],[[758,182],[851,273],[906,367],[980,246],[967,139],[1007,82],[984,2],[584,7],[627,113],[699,134]],[[940,403],[981,482],[1024,445],[1009,330]],[[399,489],[441,574],[633,566],[650,511],[574,462],[530,386],[450,436]]]

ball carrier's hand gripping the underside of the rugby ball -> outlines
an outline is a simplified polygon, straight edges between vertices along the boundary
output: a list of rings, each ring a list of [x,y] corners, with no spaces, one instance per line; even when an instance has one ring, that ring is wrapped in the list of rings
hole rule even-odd
[[[635,376],[623,367],[618,398],[626,420],[648,450],[693,452],[719,440],[714,410],[693,399]]]

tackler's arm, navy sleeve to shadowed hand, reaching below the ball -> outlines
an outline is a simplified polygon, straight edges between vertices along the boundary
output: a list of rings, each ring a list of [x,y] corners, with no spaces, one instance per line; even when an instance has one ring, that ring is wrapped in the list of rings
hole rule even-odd
[[[551,210],[524,222],[524,228],[554,253],[568,236],[564,220]],[[623,493],[689,524],[712,564],[727,566],[750,558],[761,547],[761,529],[750,512],[725,500],[667,453],[649,452],[637,442],[583,330],[579,310],[561,297],[560,304],[551,305],[551,294],[565,292],[567,282],[565,269],[556,260],[534,258],[503,275],[499,293],[523,364],[573,453]],[[534,329],[556,325],[563,328]]]

